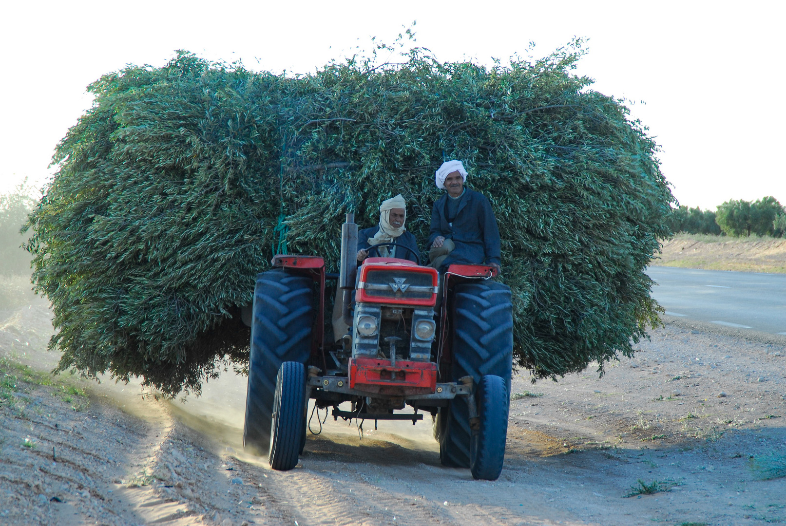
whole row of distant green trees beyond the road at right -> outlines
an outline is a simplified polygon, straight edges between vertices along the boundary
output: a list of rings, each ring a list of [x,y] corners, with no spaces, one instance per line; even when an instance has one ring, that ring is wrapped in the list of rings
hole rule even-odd
[[[772,195],[755,201],[731,199],[718,210],[678,206],[671,211],[673,232],[716,236],[773,236],[786,234],[786,208]]]

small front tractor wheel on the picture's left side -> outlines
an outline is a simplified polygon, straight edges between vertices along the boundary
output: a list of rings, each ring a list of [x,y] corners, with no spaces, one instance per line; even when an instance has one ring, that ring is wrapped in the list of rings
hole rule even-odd
[[[306,369],[303,363],[284,362],[276,378],[270,426],[270,467],[288,471],[297,466],[305,433]]]

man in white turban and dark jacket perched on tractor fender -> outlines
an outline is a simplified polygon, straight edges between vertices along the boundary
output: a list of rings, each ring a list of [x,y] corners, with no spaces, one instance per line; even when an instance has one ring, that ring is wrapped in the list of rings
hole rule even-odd
[[[491,265],[500,270],[500,239],[494,211],[485,195],[465,188],[461,161],[439,166],[437,188],[447,192],[432,209],[428,253],[432,266],[444,272],[451,263]]]

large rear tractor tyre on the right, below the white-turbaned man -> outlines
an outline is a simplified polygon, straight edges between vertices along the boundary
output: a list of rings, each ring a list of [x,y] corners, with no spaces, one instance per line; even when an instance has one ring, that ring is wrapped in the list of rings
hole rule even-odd
[[[481,378],[494,374],[502,378],[506,393],[510,393],[513,315],[509,287],[494,281],[461,283],[455,288],[450,314],[453,381],[472,376],[475,385],[479,385]],[[465,397],[457,397],[447,407],[439,408],[434,436],[439,440],[443,466],[470,467],[472,429]]]

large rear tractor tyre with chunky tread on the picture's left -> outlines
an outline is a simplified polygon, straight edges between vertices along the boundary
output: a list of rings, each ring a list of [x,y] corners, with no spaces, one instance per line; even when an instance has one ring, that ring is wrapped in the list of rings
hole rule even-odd
[[[257,455],[270,449],[271,415],[281,363],[308,361],[313,297],[310,278],[283,268],[256,276],[243,444]]]

